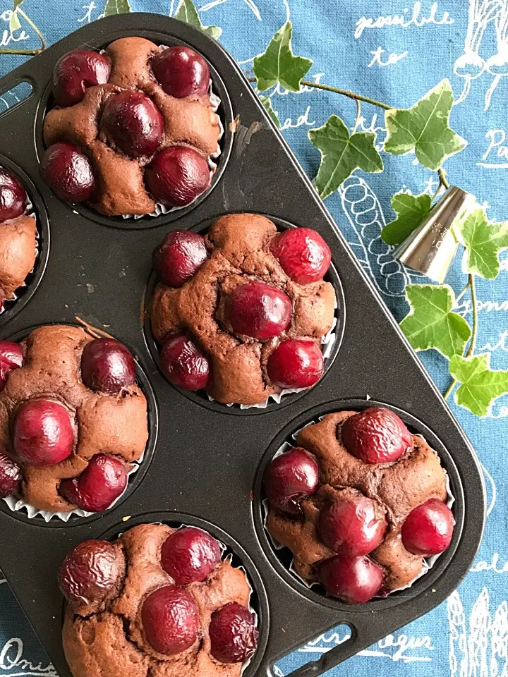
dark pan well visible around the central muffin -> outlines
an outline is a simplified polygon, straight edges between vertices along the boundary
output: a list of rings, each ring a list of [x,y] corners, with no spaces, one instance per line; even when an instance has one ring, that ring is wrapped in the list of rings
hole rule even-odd
[[[267,219],[273,221],[279,231],[284,231],[287,228],[296,228],[294,224],[290,224],[288,221],[284,221],[284,219],[279,219],[277,216],[271,216],[270,214],[261,215],[266,216]],[[207,221],[190,228],[190,230],[205,235],[212,223],[220,216],[221,214],[217,215],[213,219],[207,219]],[[332,367],[334,360],[337,358],[346,327],[346,302],[344,300],[344,289],[342,288],[341,279],[337,273],[337,268],[334,265],[333,259],[324,279],[325,281],[331,283],[334,287],[336,305],[334,310],[334,325],[332,329],[328,331],[326,336],[322,338],[322,352],[325,357],[325,371],[315,386],[311,386],[310,388],[283,390],[281,394],[277,396],[270,395],[270,397],[268,397],[264,402],[253,405],[222,404],[221,402],[217,402],[208,396],[204,390],[196,392],[186,391],[167,382],[168,387],[175,389],[179,393],[190,398],[195,403],[212,408],[215,411],[231,414],[256,414],[274,410],[274,408],[284,407],[287,404],[291,404],[291,402],[295,401],[296,398],[300,398],[308,394],[311,390],[319,388],[320,383],[326,378],[329,368]],[[157,364],[157,367],[159,367],[160,370],[161,348],[152,333],[152,325],[150,320],[150,304],[152,303],[152,296],[157,283],[157,274],[152,270],[150,279],[148,280],[147,286],[145,287],[145,293],[143,294],[141,315],[144,317],[144,331],[147,347],[150,350],[150,354],[152,355],[154,362]]]

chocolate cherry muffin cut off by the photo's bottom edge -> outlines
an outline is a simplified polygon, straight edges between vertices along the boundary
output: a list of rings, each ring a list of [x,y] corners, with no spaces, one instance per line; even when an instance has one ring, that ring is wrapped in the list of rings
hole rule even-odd
[[[74,677],[238,677],[255,652],[246,575],[196,527],[133,527],[66,557],[63,650]]]

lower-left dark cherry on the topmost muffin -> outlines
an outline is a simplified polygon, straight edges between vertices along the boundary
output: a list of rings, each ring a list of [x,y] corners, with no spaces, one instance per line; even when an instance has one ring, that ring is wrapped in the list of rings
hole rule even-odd
[[[40,164],[40,175],[42,181],[67,202],[90,200],[95,188],[89,159],[68,141],[47,148]]]

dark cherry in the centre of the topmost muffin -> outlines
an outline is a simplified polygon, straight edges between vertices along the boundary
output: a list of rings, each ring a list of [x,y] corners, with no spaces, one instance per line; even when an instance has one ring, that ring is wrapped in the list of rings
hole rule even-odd
[[[164,118],[152,99],[137,90],[109,97],[100,126],[107,138],[128,157],[155,153],[164,136]]]

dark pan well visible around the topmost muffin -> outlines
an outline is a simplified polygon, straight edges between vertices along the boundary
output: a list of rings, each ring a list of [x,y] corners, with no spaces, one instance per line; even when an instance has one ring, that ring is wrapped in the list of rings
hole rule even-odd
[[[114,42],[117,37],[129,37],[131,35],[138,35],[138,33],[140,33],[140,31],[125,32],[125,34],[113,37],[107,42],[102,42],[102,37],[97,35],[96,39],[91,39],[89,42],[87,42],[87,49],[104,51],[108,44]],[[143,30],[143,37],[147,40],[155,42],[157,45],[163,45],[164,47],[172,47],[176,44],[183,44],[186,45],[186,47],[193,47],[191,44],[188,44],[183,40],[157,31]],[[198,48],[195,49],[199,51]],[[135,230],[140,228],[155,228],[157,226],[161,226],[162,224],[170,224],[172,221],[181,218],[181,216],[184,214],[188,214],[188,212],[191,212],[193,209],[195,209],[195,207],[198,207],[198,205],[200,205],[203,200],[206,200],[208,195],[210,195],[217,183],[219,183],[221,180],[222,174],[224,173],[224,169],[229,159],[229,155],[231,154],[231,147],[233,145],[234,138],[232,131],[234,128],[233,109],[231,107],[231,99],[229,98],[226,85],[224,85],[222,78],[220,77],[219,73],[217,73],[210,61],[208,61],[208,66],[210,68],[212,93],[214,94],[214,97],[218,99],[216,112],[221,121],[222,134],[219,138],[219,152],[210,156],[212,164],[216,167],[216,169],[213,173],[210,186],[207,188],[207,190],[205,190],[204,193],[198,195],[198,197],[196,197],[190,205],[186,205],[186,207],[172,208],[169,210],[161,209],[159,207],[157,210],[159,212],[158,214],[144,214],[143,216],[133,216],[133,214],[124,214],[123,216],[107,216],[97,212],[95,209],[93,209],[93,207],[90,207],[85,202],[71,203],[66,202],[65,200],[61,200],[61,202],[63,202],[63,204],[71,209],[75,214],[81,214],[85,217],[85,219],[96,221],[103,226]],[[52,107],[52,85],[49,82],[44,87],[44,92],[37,106],[37,114],[35,116],[35,145],[37,159],[39,162],[44,155],[44,150],[46,150],[43,135],[44,117],[46,116],[47,111],[49,111],[49,109]]]

